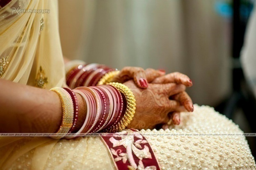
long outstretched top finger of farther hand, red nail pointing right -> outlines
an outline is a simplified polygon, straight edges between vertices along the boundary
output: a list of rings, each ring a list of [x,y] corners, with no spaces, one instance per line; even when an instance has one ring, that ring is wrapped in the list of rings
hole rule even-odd
[[[184,75],[182,73],[170,73],[168,75],[164,75],[161,77],[158,77],[156,79],[153,80],[153,82],[151,83],[155,83],[155,84],[165,84],[165,83],[177,83],[177,84],[184,84],[185,86],[192,86],[192,81],[190,80],[189,77],[187,77],[187,75]]]

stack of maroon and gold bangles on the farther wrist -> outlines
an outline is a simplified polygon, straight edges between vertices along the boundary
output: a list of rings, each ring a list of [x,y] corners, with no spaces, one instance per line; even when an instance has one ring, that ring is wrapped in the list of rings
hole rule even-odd
[[[110,83],[117,69],[102,64],[86,64],[80,60],[73,60],[66,64],[66,84],[71,88],[80,86],[96,86]]]

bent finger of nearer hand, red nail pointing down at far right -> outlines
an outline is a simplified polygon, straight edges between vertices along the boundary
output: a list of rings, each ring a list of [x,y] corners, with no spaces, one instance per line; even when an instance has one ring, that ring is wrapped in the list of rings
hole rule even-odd
[[[182,91],[181,93],[171,96],[171,98],[180,102],[187,111],[194,111],[193,102],[190,96],[185,91]]]

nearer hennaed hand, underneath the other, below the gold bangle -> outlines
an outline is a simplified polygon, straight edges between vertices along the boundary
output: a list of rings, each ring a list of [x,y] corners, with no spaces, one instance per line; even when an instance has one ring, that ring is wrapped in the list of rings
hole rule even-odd
[[[124,84],[133,91],[136,100],[135,116],[128,128],[153,129],[155,125],[167,123],[170,112],[192,110],[192,100],[183,84],[149,84],[146,89],[138,88],[131,80]]]

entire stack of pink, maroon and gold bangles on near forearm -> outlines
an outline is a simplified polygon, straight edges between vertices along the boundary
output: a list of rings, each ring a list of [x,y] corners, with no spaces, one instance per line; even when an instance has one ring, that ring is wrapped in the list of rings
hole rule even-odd
[[[62,123],[52,138],[74,138],[78,134],[116,132],[125,129],[135,113],[135,97],[130,89],[120,83],[70,88],[50,89],[59,95],[62,103]],[[78,121],[78,100],[81,95],[87,106],[82,127],[74,131]],[[72,135],[69,135],[71,134]]]

